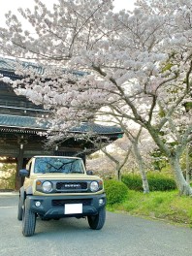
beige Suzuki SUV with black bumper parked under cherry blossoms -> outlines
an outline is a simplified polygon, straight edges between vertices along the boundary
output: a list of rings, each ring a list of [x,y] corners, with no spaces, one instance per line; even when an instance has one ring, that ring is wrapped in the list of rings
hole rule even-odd
[[[43,220],[87,217],[91,229],[102,229],[106,220],[103,180],[86,172],[79,157],[34,156],[19,190],[17,219],[22,234],[33,236],[37,216]]]

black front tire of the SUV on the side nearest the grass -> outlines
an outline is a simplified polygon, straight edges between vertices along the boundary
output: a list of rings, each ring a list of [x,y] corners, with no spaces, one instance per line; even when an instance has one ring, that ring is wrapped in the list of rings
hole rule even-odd
[[[100,230],[103,228],[106,221],[106,208],[100,209],[97,215],[88,216],[88,224],[93,230]]]

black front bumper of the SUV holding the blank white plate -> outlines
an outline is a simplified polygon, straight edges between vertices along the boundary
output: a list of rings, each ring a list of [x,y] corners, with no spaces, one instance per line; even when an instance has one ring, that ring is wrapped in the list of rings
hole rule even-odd
[[[103,203],[102,203],[103,201]],[[40,202],[40,206],[36,206]],[[102,204],[101,204],[102,203]],[[96,215],[106,206],[106,194],[82,196],[27,196],[27,208],[43,219]]]

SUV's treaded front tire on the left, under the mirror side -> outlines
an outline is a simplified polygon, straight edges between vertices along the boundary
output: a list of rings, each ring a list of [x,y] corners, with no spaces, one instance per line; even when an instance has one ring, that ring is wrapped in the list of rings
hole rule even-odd
[[[27,208],[26,200],[22,213],[22,235],[24,237],[31,237],[35,232],[36,213]]]

